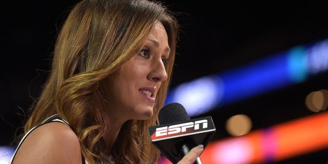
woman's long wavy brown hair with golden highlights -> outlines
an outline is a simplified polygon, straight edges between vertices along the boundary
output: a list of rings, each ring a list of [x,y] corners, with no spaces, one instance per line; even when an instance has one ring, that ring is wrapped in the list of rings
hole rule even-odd
[[[156,163],[160,152],[151,144],[148,127],[155,126],[170,85],[179,25],[174,13],[159,2],[85,0],[73,6],[58,33],[51,72],[39,98],[31,106],[25,133],[58,114],[69,122],[89,163],[104,161],[105,83],[110,74],[144,46],[156,22],[168,34],[171,49],[166,72],[148,120],[128,120],[112,147],[115,163]]]

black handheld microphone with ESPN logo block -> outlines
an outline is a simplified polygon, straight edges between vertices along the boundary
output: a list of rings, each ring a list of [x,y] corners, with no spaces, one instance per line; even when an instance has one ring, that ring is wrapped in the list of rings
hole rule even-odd
[[[211,116],[190,119],[185,107],[170,103],[159,111],[159,125],[148,128],[152,144],[172,163],[177,163],[193,147],[204,149],[216,129]],[[198,157],[195,164],[201,164]]]

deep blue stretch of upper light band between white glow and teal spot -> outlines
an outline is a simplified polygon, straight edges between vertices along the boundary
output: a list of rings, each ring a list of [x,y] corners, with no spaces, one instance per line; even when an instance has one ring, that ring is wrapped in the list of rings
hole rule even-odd
[[[291,83],[286,52],[219,74],[224,85],[221,105],[268,92]]]

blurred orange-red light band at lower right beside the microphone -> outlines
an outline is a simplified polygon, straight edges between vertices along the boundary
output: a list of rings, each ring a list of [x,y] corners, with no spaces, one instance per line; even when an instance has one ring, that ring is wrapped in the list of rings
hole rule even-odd
[[[210,142],[202,163],[271,163],[328,148],[328,112]],[[328,159],[328,157],[327,157]],[[313,159],[315,162],[315,159]],[[171,164],[162,157],[159,164]]]

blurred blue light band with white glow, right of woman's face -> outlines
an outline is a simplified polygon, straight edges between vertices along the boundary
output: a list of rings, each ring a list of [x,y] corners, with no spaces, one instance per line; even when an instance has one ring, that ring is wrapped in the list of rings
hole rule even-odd
[[[328,39],[200,77],[170,89],[166,104],[182,104],[189,116],[277,90],[328,70]]]

